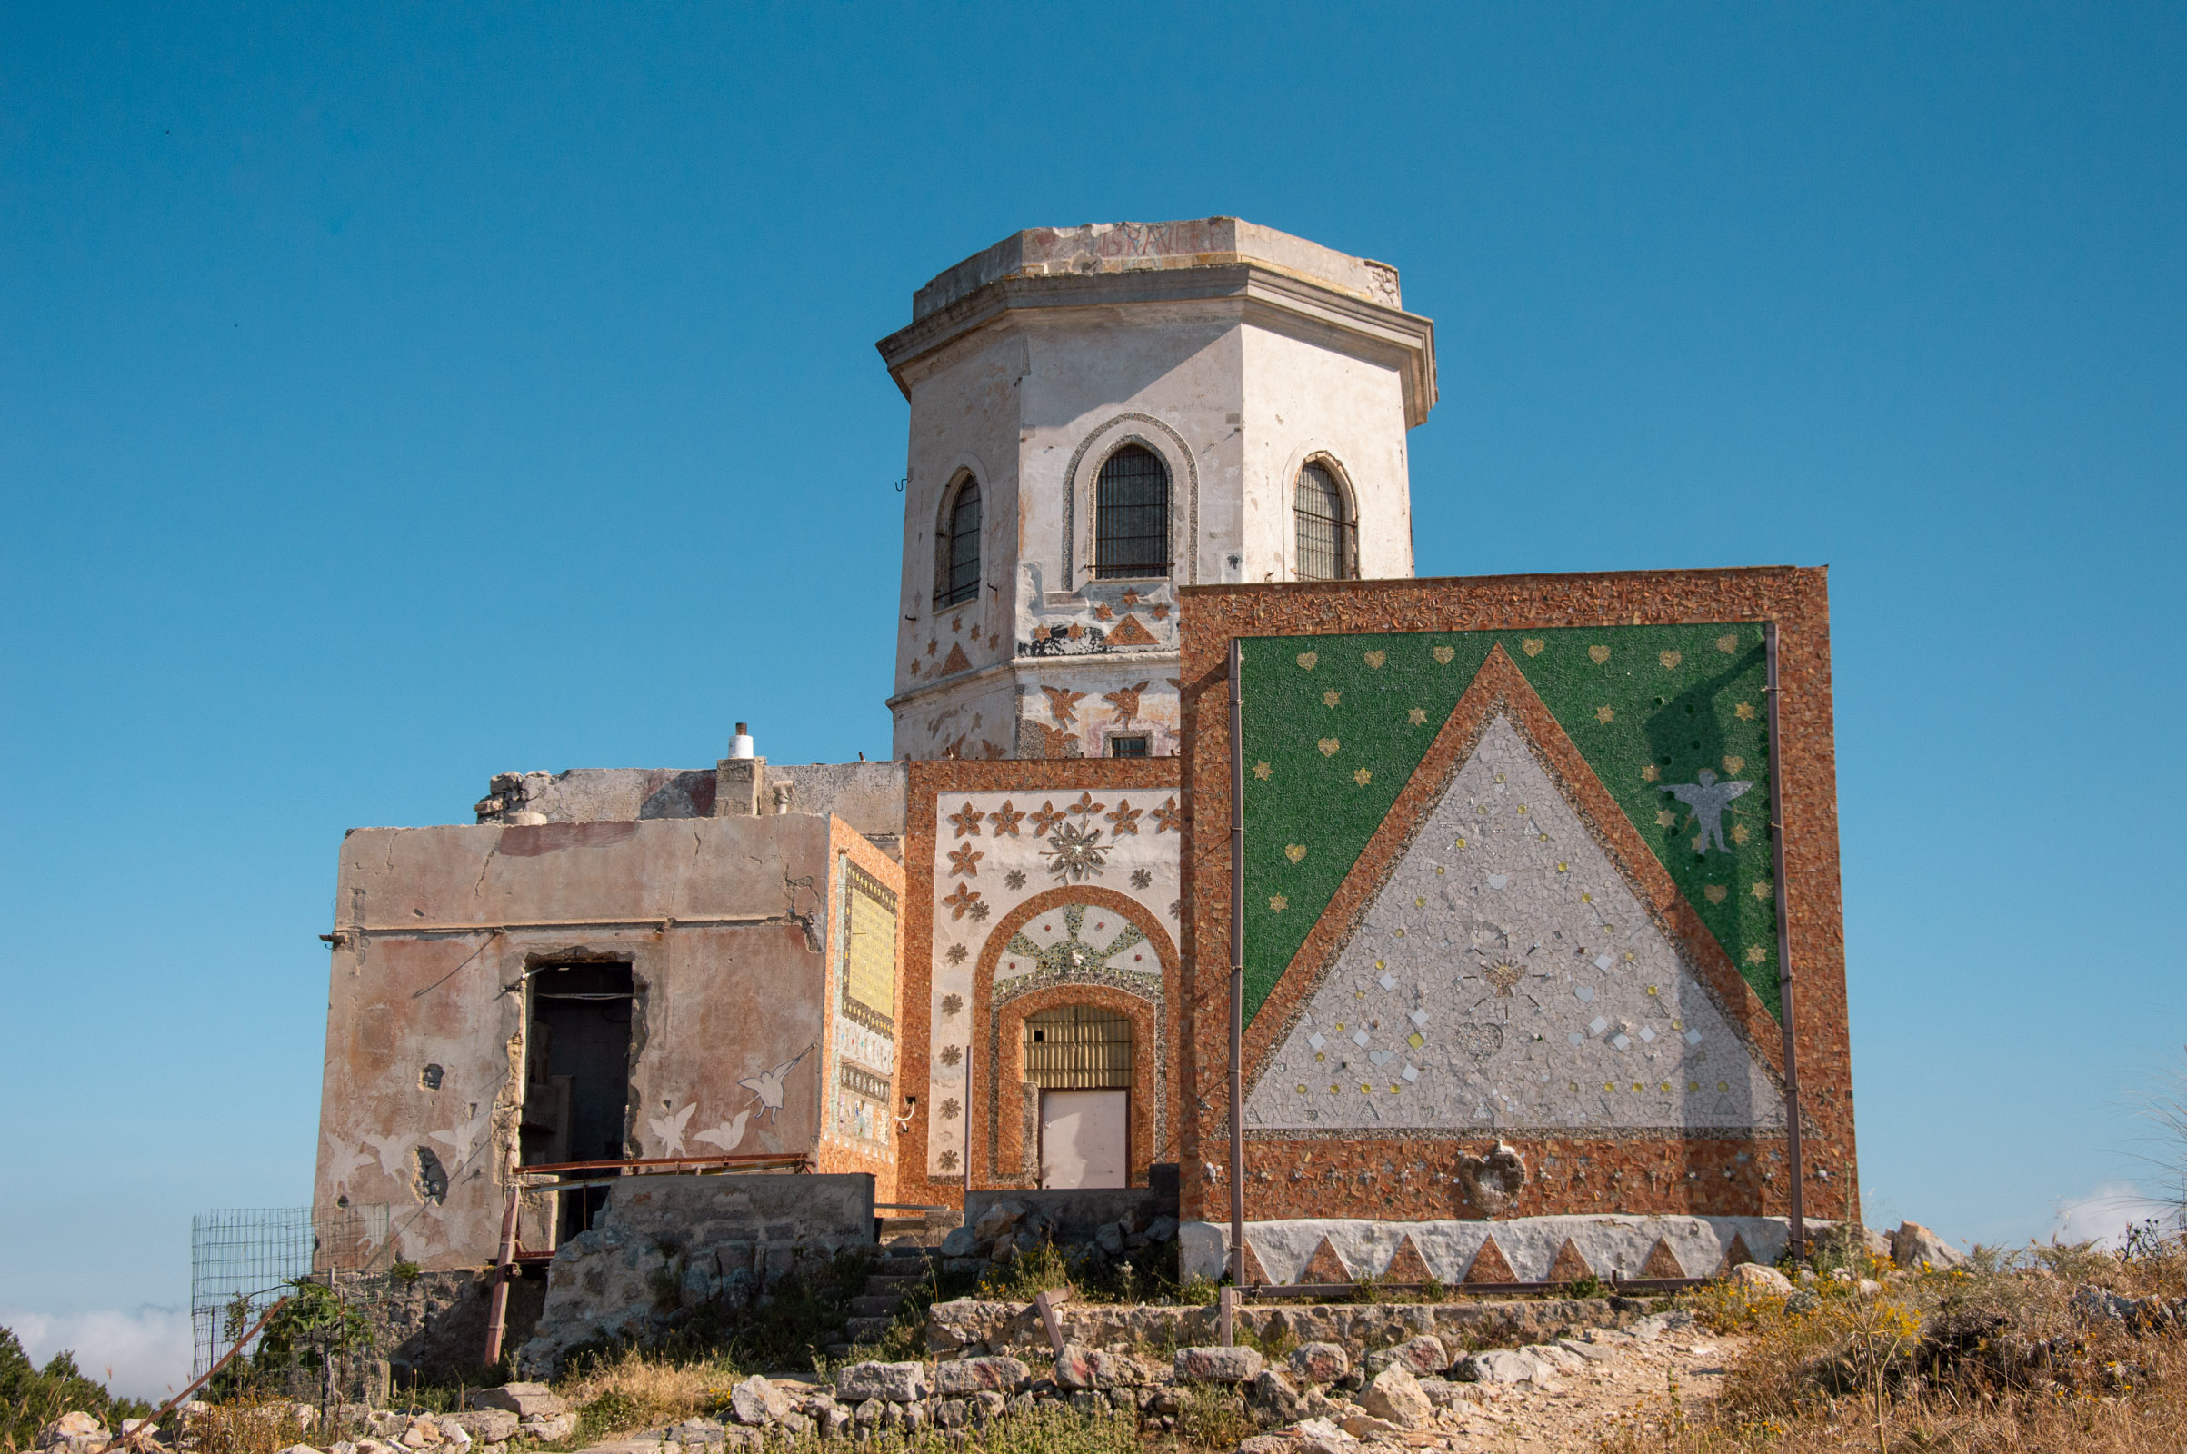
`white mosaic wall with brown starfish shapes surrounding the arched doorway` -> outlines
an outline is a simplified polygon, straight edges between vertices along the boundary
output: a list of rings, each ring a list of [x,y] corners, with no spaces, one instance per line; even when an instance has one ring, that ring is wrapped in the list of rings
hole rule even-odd
[[[905,824],[905,1113],[899,1165],[960,1205],[1034,1185],[1026,1015],[1133,1023],[1128,1161],[1177,1159],[1179,759],[914,761]],[[919,1091],[916,1087],[925,1087]]]

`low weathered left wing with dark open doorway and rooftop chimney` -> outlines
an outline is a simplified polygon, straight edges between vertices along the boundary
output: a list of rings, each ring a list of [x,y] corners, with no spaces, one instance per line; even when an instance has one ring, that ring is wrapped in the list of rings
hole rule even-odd
[[[903,765],[691,783],[501,781],[477,824],[343,837],[317,1209],[448,1270],[494,1255],[514,1163],[803,1154],[894,1194]],[[805,811],[757,811],[790,783]],[[523,1246],[597,1205],[529,1205]]]

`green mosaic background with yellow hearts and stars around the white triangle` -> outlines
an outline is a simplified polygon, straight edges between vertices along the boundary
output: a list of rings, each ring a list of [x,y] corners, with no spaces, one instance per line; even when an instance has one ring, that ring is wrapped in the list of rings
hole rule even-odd
[[[1247,1019],[1498,643],[1776,1015],[1767,656],[1761,623],[1719,621],[1244,638]],[[1721,851],[1664,792],[1701,772],[1752,783]]]

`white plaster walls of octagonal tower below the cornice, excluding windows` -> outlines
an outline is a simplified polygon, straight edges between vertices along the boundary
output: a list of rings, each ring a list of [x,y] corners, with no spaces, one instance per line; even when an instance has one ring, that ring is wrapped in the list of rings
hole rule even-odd
[[[1019,308],[905,370],[897,757],[1063,757],[1054,732],[1019,732],[997,706],[1069,728],[1037,689],[1083,689],[1115,656],[1133,660],[1096,671],[1146,680],[1144,715],[1174,724],[1174,590],[1293,579],[1290,503],[1310,457],[1332,459],[1354,494],[1360,575],[1413,573],[1400,370],[1343,352],[1334,335],[1308,341],[1247,317],[1266,313],[1240,297]],[[1166,582],[1091,579],[1096,481],[1122,444],[1170,470]],[[984,586],[980,601],[936,612],[936,523],[962,470],[980,479]],[[1032,649],[1065,632],[1067,647]],[[980,676],[1004,662],[1004,680]],[[1100,754],[1100,735],[1074,748]]]

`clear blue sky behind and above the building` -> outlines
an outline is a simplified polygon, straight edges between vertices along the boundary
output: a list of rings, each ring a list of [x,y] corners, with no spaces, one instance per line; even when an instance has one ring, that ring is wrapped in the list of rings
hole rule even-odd
[[[1831,566],[1872,1216],[2045,1235],[2187,1039],[2183,98],[2126,4],[0,7],[0,1310],[308,1200],[343,829],[884,754],[873,341],[1207,214],[1435,317],[1424,575]]]

